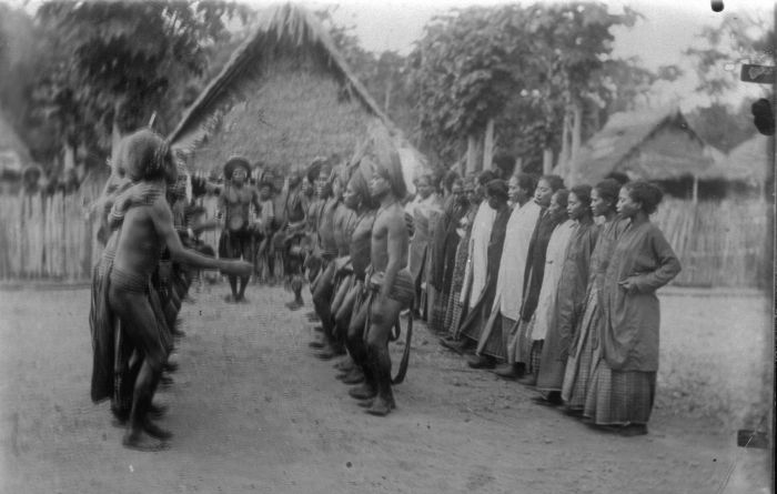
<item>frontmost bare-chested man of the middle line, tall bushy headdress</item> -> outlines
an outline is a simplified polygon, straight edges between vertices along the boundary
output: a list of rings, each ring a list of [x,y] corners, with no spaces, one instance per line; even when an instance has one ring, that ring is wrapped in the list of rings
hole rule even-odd
[[[400,157],[387,135],[375,135],[374,148],[365,160],[372,161],[370,192],[380,203],[372,229],[370,250],[372,292],[369,305],[366,346],[372,376],[350,391],[356,399],[373,399],[367,413],[386,415],[395,407],[391,389],[391,356],[389,337],[400,312],[413,304],[413,278],[407,271],[410,236],[401,200],[407,189],[402,175]],[[372,382],[370,382],[372,381]]]

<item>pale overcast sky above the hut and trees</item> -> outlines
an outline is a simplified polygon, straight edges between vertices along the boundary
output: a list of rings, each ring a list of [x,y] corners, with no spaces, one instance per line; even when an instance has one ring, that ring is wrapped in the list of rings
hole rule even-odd
[[[406,54],[413,48],[413,42],[423,34],[423,27],[433,16],[443,13],[451,8],[472,4],[502,4],[500,0],[344,0],[307,1],[312,8],[336,4],[334,18],[337,23],[355,26],[362,46],[367,50],[395,50]],[[519,3],[533,3],[519,1]],[[713,12],[709,0],[610,0],[606,2],[610,11],[619,12],[624,4],[636,9],[645,19],[634,28],[618,28],[615,36],[613,54],[616,57],[638,56],[650,69],[660,65],[677,64],[686,69],[686,77],[672,84],[659,84],[656,88],[656,101],[668,104],[677,101],[684,110],[708,104],[708,100],[694,93],[695,74],[688,59],[682,56],[683,50],[693,43],[698,43],[697,34],[702,27],[717,26],[720,13]],[[725,0],[724,12],[746,14],[763,19],[771,24],[774,14],[768,0]],[[739,63],[743,59],[751,62],[761,61],[763,53],[745,50],[741,57],[730,60],[726,69],[731,78],[738,80]],[[755,58],[761,57],[761,60]],[[763,88],[758,84],[738,83],[737,91],[729,95],[735,103],[744,97],[761,95]]]

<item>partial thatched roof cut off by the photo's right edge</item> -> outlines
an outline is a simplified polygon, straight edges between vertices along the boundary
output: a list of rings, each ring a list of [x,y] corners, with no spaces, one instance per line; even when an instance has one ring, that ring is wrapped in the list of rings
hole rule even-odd
[[[767,169],[774,165],[774,138],[756,134],[734,148],[728,157],[715,162],[700,178],[758,186],[766,181]]]

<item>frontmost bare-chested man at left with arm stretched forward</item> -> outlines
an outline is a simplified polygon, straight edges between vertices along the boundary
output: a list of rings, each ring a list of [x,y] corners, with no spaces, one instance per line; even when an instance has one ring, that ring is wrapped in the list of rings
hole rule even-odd
[[[123,153],[123,164],[133,182],[153,183],[164,191],[165,181],[175,180],[176,169],[164,141],[155,133],[141,130],[129,135]],[[163,443],[158,440],[171,435],[148,416],[165,359],[159,321],[149,299],[151,274],[164,246],[170,250],[173,261],[194,268],[220,269],[234,275],[248,275],[253,269],[248,262],[215,260],[184,249],[173,226],[170,205],[162,194],[150,205],[135,206],[125,213],[110,273],[108,299],[142,362],[134,383],[123,444],[143,451],[162,447]]]

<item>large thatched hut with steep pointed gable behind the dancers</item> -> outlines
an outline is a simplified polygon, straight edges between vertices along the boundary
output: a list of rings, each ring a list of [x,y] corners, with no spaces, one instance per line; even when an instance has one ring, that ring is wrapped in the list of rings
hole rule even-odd
[[[390,133],[408,186],[424,159],[356,80],[319,20],[291,3],[259,27],[170,134],[195,172],[220,171],[234,153],[265,167],[349,159],[370,131]]]

